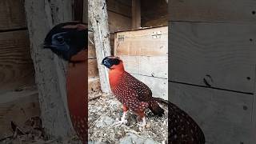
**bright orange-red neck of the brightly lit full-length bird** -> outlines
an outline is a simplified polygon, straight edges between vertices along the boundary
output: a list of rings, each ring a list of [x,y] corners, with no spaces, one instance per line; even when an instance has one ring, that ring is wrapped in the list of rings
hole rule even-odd
[[[119,82],[119,79],[122,78],[125,69],[120,63],[118,66],[115,66],[113,69],[110,69],[109,78],[110,78],[110,87],[116,86]]]

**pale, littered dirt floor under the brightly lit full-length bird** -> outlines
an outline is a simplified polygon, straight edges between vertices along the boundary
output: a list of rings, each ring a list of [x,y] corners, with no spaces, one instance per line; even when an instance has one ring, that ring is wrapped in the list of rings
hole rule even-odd
[[[122,104],[112,94],[90,94],[89,139],[96,143],[167,143],[167,107],[162,118],[146,111],[146,128],[138,126],[138,118],[132,112],[127,114],[127,124],[113,126],[122,117]]]

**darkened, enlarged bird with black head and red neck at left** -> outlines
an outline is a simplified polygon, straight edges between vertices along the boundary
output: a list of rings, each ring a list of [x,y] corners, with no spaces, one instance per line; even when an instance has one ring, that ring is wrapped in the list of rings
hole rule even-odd
[[[82,23],[61,23],[50,30],[44,42],[45,48],[50,48],[54,54],[70,63],[66,72],[68,109],[74,130],[82,143],[88,142],[87,32],[86,26]]]

